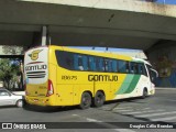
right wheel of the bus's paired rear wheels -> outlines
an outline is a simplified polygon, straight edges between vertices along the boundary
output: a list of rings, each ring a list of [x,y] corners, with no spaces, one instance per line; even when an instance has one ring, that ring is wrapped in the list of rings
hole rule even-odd
[[[97,91],[94,100],[94,106],[102,107],[103,102],[105,102],[105,95],[101,91]]]

